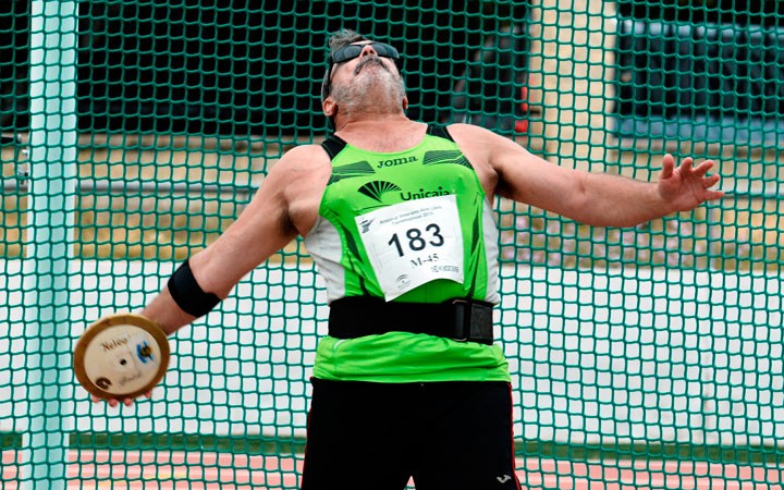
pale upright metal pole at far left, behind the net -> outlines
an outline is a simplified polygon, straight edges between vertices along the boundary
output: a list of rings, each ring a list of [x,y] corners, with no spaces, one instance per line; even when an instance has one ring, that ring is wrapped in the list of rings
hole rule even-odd
[[[32,2],[24,489],[65,489],[73,429],[69,267],[76,186],[76,1]]]

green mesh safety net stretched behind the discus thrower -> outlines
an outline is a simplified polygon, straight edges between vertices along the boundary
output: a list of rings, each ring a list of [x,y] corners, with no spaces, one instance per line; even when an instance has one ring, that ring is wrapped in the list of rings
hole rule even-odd
[[[149,402],[94,405],[71,353],[321,140],[340,27],[404,53],[414,119],[641,180],[719,163],[725,199],[633,229],[498,203],[523,486],[781,485],[784,11],[739,3],[2,2],[0,487],[297,487],[326,329],[301,242],[172,338]]]

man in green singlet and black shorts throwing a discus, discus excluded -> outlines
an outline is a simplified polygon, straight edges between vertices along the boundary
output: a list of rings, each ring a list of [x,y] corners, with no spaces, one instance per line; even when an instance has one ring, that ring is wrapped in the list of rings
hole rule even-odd
[[[671,156],[658,183],[586,173],[478,126],[415,122],[393,47],[342,30],[330,49],[334,135],[283,156],[142,314],[171,334],[302,235],[331,307],[303,489],[403,489],[412,476],[418,490],[517,489],[510,375],[492,334],[494,196],[630,226],[720,198],[719,176],[706,176],[711,161],[675,168]]]

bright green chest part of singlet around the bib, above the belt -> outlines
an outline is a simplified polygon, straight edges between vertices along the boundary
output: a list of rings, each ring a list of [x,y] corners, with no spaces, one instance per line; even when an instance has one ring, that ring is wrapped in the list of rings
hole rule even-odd
[[[487,199],[474,168],[454,142],[427,135],[416,147],[393,154],[345,145],[333,157],[332,167],[319,212],[335,226],[341,238],[343,295],[384,295],[363,245],[357,217],[401,203],[452,195],[462,229],[464,282],[437,279],[399,299],[485,298],[482,212]]]

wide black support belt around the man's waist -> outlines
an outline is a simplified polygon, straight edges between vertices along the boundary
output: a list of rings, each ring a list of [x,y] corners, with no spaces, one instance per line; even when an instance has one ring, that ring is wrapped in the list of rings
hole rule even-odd
[[[492,304],[473,299],[388,303],[351,296],[332,302],[329,317],[329,334],[335,339],[412,332],[492,345]]]

